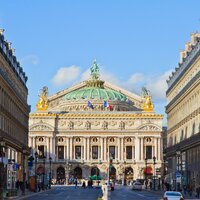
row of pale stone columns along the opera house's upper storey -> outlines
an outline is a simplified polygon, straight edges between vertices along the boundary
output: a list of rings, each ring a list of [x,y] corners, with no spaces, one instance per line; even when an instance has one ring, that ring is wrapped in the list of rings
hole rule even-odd
[[[45,152],[46,152],[46,158],[51,156],[52,161],[58,160],[58,147],[59,145],[64,146],[64,159],[65,160],[75,160],[75,140],[74,137],[66,137],[63,136],[64,142],[58,143],[56,137],[49,137],[49,136],[42,136],[45,138],[45,142],[38,143],[37,137],[41,136],[29,136],[29,146],[33,148],[33,154],[35,153],[35,150],[38,149],[38,145],[44,145],[45,146]],[[97,137],[100,138],[100,142],[95,146],[98,146],[98,160],[101,160],[102,162],[107,162],[109,160],[109,153],[108,149],[109,146],[115,146],[115,160],[119,162],[124,161],[132,161],[132,162],[139,162],[145,160],[146,155],[146,143],[145,143],[145,137],[143,136],[135,136],[131,137],[134,139],[134,142],[131,142],[129,144],[126,143],[127,137],[122,136],[113,136],[116,138],[115,143],[110,143],[108,141],[108,136],[104,137]],[[83,141],[81,142],[81,160],[84,162],[90,162],[92,161],[92,143],[91,138],[92,137],[80,137],[83,138]],[[162,140],[160,136],[151,137],[152,143],[148,144],[152,146],[152,157],[155,156],[158,161],[162,160]],[[126,159],[126,146],[132,146],[132,159]]]

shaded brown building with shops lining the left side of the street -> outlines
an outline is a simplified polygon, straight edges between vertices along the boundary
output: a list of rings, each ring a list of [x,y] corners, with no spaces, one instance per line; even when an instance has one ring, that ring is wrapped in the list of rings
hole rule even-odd
[[[0,29],[0,192],[23,181],[28,149],[27,77]],[[25,173],[25,171],[24,171]],[[1,195],[0,195],[1,196]],[[1,197],[0,197],[1,198]]]

